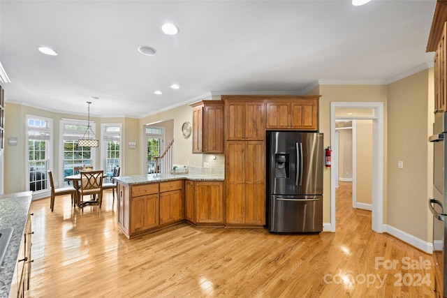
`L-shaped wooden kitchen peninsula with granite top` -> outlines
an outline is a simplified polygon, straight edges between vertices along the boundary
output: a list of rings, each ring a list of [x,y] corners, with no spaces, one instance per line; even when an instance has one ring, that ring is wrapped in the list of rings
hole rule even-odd
[[[223,227],[223,174],[145,174],[116,178],[118,226],[126,237],[187,221]]]

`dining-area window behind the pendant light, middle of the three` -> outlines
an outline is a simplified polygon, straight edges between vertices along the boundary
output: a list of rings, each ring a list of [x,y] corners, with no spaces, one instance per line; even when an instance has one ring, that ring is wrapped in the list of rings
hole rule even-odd
[[[95,131],[95,124],[91,121],[90,126]],[[86,130],[87,121],[61,120],[62,152],[60,156],[64,156],[62,160],[64,186],[68,185],[65,177],[74,174],[73,167],[94,167],[94,150],[90,147],[78,146],[78,140],[82,138]]]

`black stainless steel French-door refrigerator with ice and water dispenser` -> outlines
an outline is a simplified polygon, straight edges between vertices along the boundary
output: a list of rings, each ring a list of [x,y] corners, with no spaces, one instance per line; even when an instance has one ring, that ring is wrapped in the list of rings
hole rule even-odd
[[[267,228],[323,230],[323,133],[267,133]]]

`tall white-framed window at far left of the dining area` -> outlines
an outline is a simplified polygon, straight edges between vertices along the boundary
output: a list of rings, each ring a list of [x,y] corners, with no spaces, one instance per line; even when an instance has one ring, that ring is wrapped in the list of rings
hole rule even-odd
[[[50,170],[52,119],[27,115],[29,191],[46,191]]]

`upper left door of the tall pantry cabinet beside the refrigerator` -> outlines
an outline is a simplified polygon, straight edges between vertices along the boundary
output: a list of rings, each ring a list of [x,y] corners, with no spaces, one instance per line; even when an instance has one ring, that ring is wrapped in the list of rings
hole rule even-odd
[[[245,137],[245,103],[226,102],[226,140],[243,140]]]

